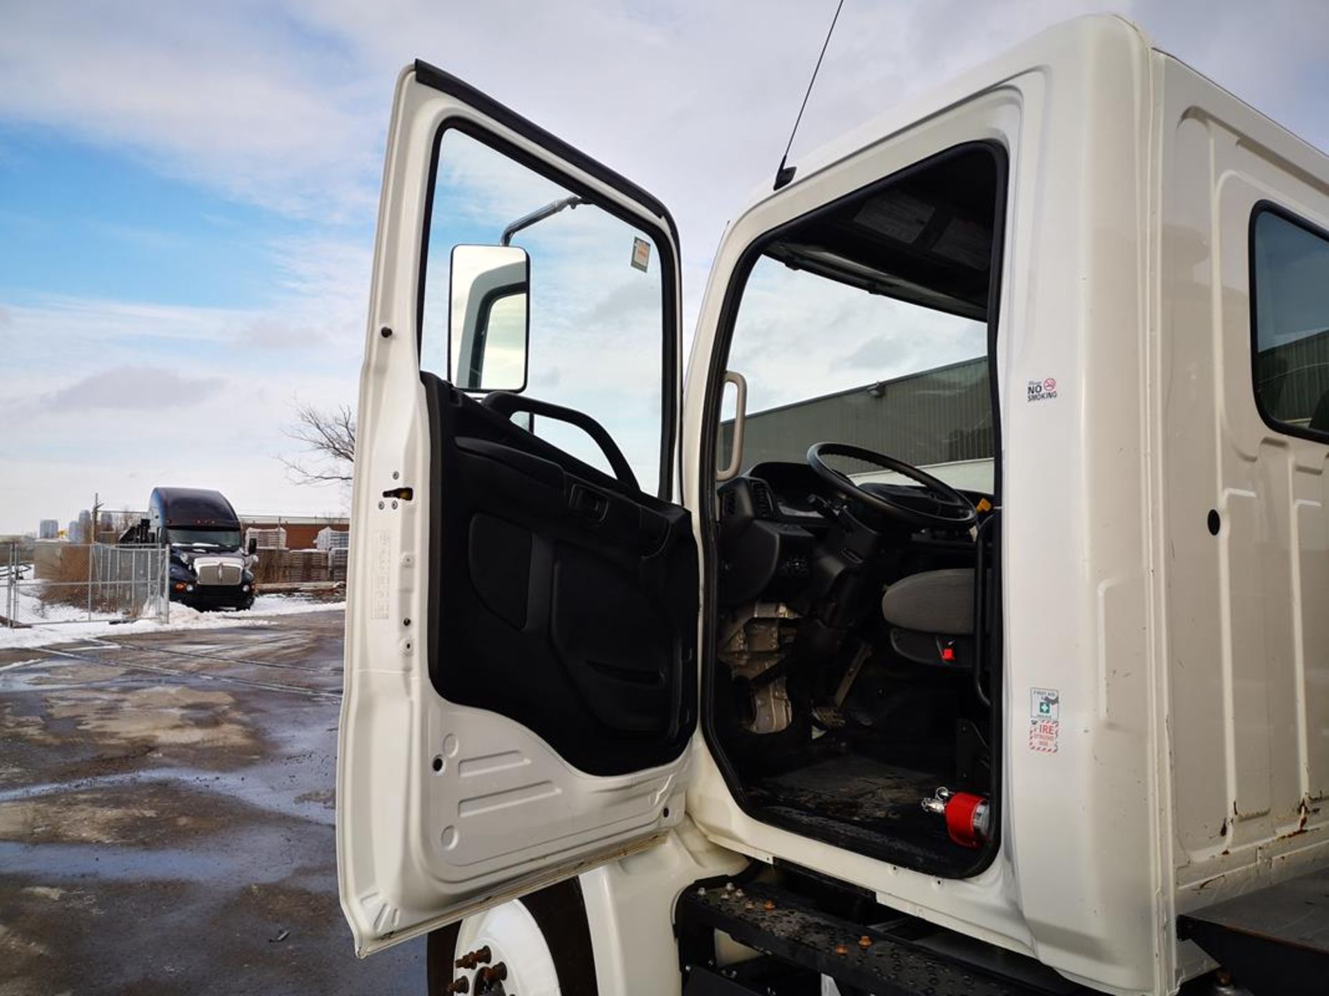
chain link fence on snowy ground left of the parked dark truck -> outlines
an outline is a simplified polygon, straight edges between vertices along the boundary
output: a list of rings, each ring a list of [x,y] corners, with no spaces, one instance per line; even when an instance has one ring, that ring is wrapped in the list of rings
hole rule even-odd
[[[136,543],[0,544],[0,625],[166,622],[170,550]]]

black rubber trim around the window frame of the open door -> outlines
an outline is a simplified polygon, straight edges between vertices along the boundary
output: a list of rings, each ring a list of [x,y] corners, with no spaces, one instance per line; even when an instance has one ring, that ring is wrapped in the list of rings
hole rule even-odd
[[[619,194],[623,194],[626,198],[635,201],[650,214],[663,219],[664,222],[664,227],[662,228],[658,224],[653,224],[650,219],[623,211],[618,205],[603,203],[585,183],[581,183],[565,173],[553,169],[550,163],[534,158],[525,150],[516,147],[510,142],[505,142],[498,135],[478,127],[472,121],[461,118],[445,120],[439,126],[439,131],[433,138],[433,151],[429,161],[429,178],[425,185],[424,228],[421,231],[419,250],[420,274],[416,284],[416,348],[420,348],[420,336],[424,328],[424,286],[429,255],[429,220],[433,215],[433,185],[439,171],[439,147],[443,143],[444,133],[449,129],[456,129],[457,131],[468,134],[476,141],[488,145],[494,151],[506,155],[514,162],[521,163],[526,169],[538,173],[546,179],[552,179],[553,182],[566,187],[570,193],[581,195],[595,207],[599,207],[615,218],[654,235],[655,248],[659,251],[661,286],[663,295],[662,317],[666,332],[662,347],[663,361],[661,402],[663,408],[663,424],[661,429],[659,487],[657,489],[657,494],[664,501],[671,501],[674,489],[674,448],[678,445],[678,406],[680,400],[678,390],[678,371],[679,364],[682,363],[682,357],[679,356],[682,349],[679,324],[679,308],[682,307],[682,301],[679,299],[682,296],[682,283],[679,279],[678,256],[683,252],[674,215],[670,214],[668,208],[664,207],[657,197],[627,179],[627,177],[623,177],[621,173],[615,173],[599,161],[593,159],[585,153],[574,149],[558,135],[546,131],[536,122],[522,117],[481,90],[477,90],[464,80],[459,80],[451,73],[447,73],[443,69],[429,65],[419,58],[415,64],[415,74],[416,80],[423,85],[447,93],[449,97],[456,97],[472,110],[484,114],[512,131],[516,131],[529,142],[538,145],[550,155],[566,162],[569,166],[581,170],[582,173],[594,177],[606,186],[617,190]],[[529,325],[529,305],[526,320]]]

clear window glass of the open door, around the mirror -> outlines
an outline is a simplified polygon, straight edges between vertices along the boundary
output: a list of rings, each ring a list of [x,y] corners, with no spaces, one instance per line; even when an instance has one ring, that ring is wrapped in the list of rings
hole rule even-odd
[[[530,220],[544,208],[553,210]],[[516,227],[516,222],[528,223]],[[672,333],[664,328],[663,280],[672,278],[662,272],[654,239],[456,127],[445,127],[439,145],[425,248],[421,368],[449,376],[453,248],[498,246],[509,228],[516,228],[509,244],[529,256],[526,393],[603,425],[642,490],[655,493],[663,336]],[[520,347],[520,317],[513,301],[496,301],[490,341],[497,336]],[[492,360],[486,364],[493,368]],[[538,417],[532,429],[611,473],[599,446],[581,429]]]

